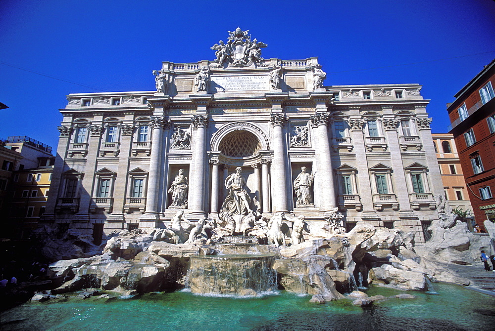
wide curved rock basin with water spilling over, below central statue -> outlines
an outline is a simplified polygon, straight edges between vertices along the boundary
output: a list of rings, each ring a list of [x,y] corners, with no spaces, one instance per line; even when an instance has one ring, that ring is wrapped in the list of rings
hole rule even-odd
[[[277,289],[275,254],[191,256],[188,286],[196,294],[255,296]]]

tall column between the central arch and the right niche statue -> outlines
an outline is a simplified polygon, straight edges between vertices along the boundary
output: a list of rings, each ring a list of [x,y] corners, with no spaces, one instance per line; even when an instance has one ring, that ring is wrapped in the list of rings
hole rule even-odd
[[[285,162],[285,136],[283,126],[287,122],[285,114],[271,114],[273,125],[272,194],[273,211],[287,211],[287,166]]]

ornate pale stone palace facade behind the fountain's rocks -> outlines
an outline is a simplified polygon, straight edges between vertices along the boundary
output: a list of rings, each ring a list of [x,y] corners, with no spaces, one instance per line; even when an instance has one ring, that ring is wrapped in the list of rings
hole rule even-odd
[[[98,236],[181,209],[318,226],[337,207],[347,229],[413,226],[421,243],[444,194],[421,86],[325,86],[318,58],[263,59],[229,34],[216,60],[163,62],[156,90],[69,94],[43,219]]]

